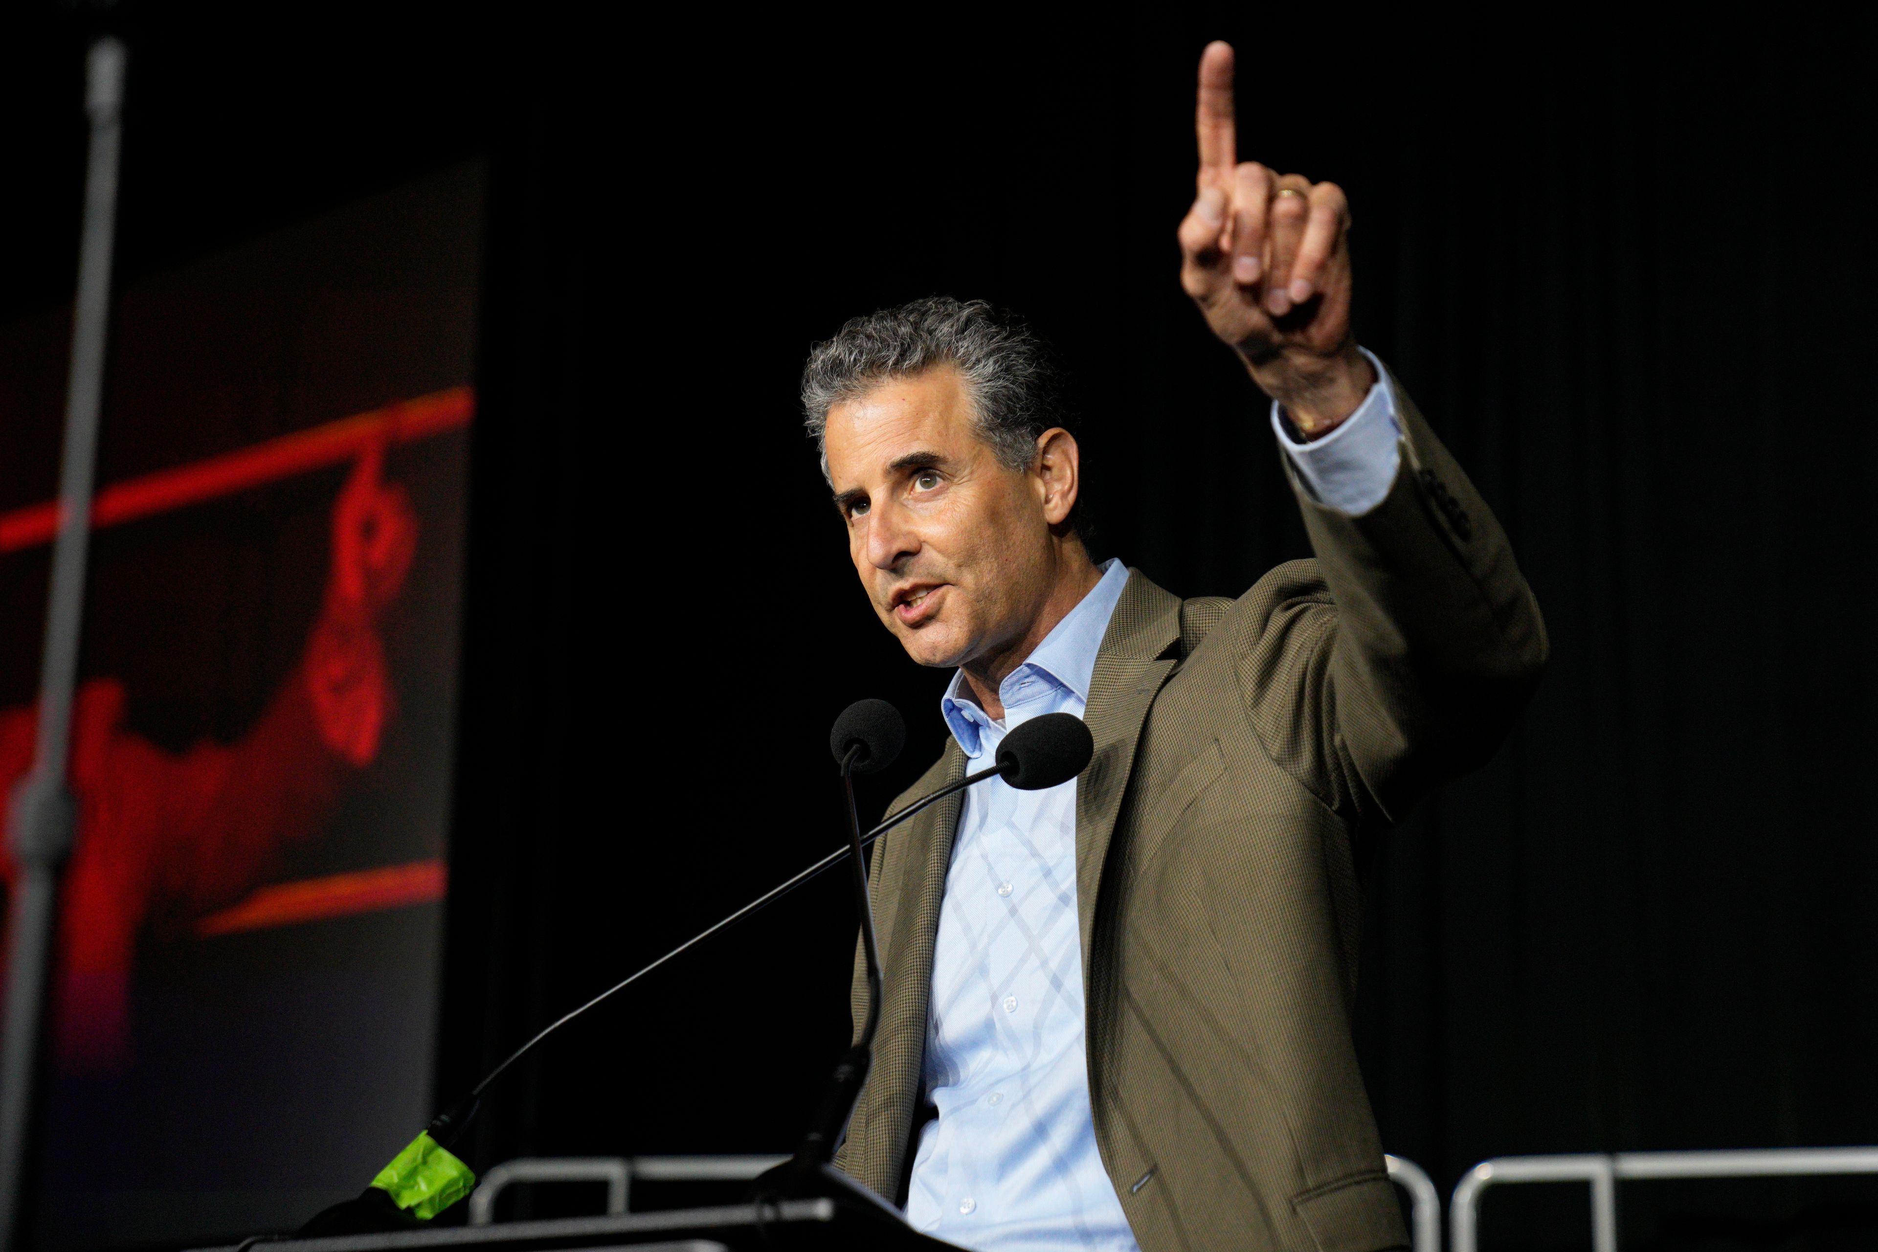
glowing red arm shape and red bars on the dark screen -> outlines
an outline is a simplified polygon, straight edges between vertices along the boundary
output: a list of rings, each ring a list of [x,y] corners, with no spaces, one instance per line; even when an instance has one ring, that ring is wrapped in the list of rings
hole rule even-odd
[[[419,537],[404,488],[383,479],[385,447],[462,426],[470,413],[468,389],[456,389],[98,494],[92,522],[109,526],[355,462],[332,507],[319,618],[297,668],[244,736],[169,753],[124,728],[120,681],[79,689],[69,770],[79,843],[64,882],[53,1004],[62,1066],[126,1061],[131,959],[146,931],[225,935],[443,893],[436,862],[261,884],[278,873],[285,847],[321,828],[346,775],[377,756],[393,715],[377,618],[396,599]],[[0,516],[0,552],[45,542],[56,516],[53,505]],[[0,710],[0,788],[11,790],[30,768],[34,730],[34,708]],[[9,862],[0,873],[11,882]]]

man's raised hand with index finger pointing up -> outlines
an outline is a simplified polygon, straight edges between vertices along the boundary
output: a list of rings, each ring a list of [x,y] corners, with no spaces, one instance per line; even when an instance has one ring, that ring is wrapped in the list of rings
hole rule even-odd
[[[1350,206],[1335,182],[1238,160],[1232,45],[1200,54],[1200,176],[1181,287],[1307,435],[1356,411],[1375,368],[1350,330]]]

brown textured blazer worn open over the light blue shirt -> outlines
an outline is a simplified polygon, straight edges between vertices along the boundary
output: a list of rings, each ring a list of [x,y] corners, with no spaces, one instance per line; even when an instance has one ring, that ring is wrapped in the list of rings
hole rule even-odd
[[[1315,561],[1238,601],[1131,571],[1097,655],[1076,786],[1089,1096],[1144,1252],[1408,1243],[1350,1044],[1350,841],[1487,760],[1546,627],[1499,522],[1395,400],[1380,505],[1347,516],[1292,479]],[[892,807],[962,775],[950,743]],[[886,993],[836,1164],[883,1196],[920,1100],[960,809],[926,809],[873,858]],[[856,969],[856,1017],[864,987]]]

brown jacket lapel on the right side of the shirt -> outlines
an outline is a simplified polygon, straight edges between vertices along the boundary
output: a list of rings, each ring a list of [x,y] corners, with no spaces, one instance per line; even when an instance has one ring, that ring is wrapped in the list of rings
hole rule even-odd
[[[1089,935],[1102,863],[1116,833],[1121,800],[1134,770],[1142,723],[1161,685],[1179,664],[1168,649],[1179,642],[1179,597],[1162,591],[1138,569],[1108,619],[1108,633],[1095,655],[1089,708],[1084,721],[1095,740],[1095,756],[1076,781],[1076,922],[1082,933],[1082,978],[1089,982]],[[943,886],[943,884],[941,884]],[[937,914],[935,914],[937,916]]]

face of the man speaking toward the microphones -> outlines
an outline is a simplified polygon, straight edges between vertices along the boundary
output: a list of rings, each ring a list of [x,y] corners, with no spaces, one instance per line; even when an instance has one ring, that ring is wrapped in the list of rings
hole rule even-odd
[[[824,447],[854,571],[915,661],[967,664],[1024,638],[1050,595],[1044,488],[978,437],[958,370],[834,405]]]

